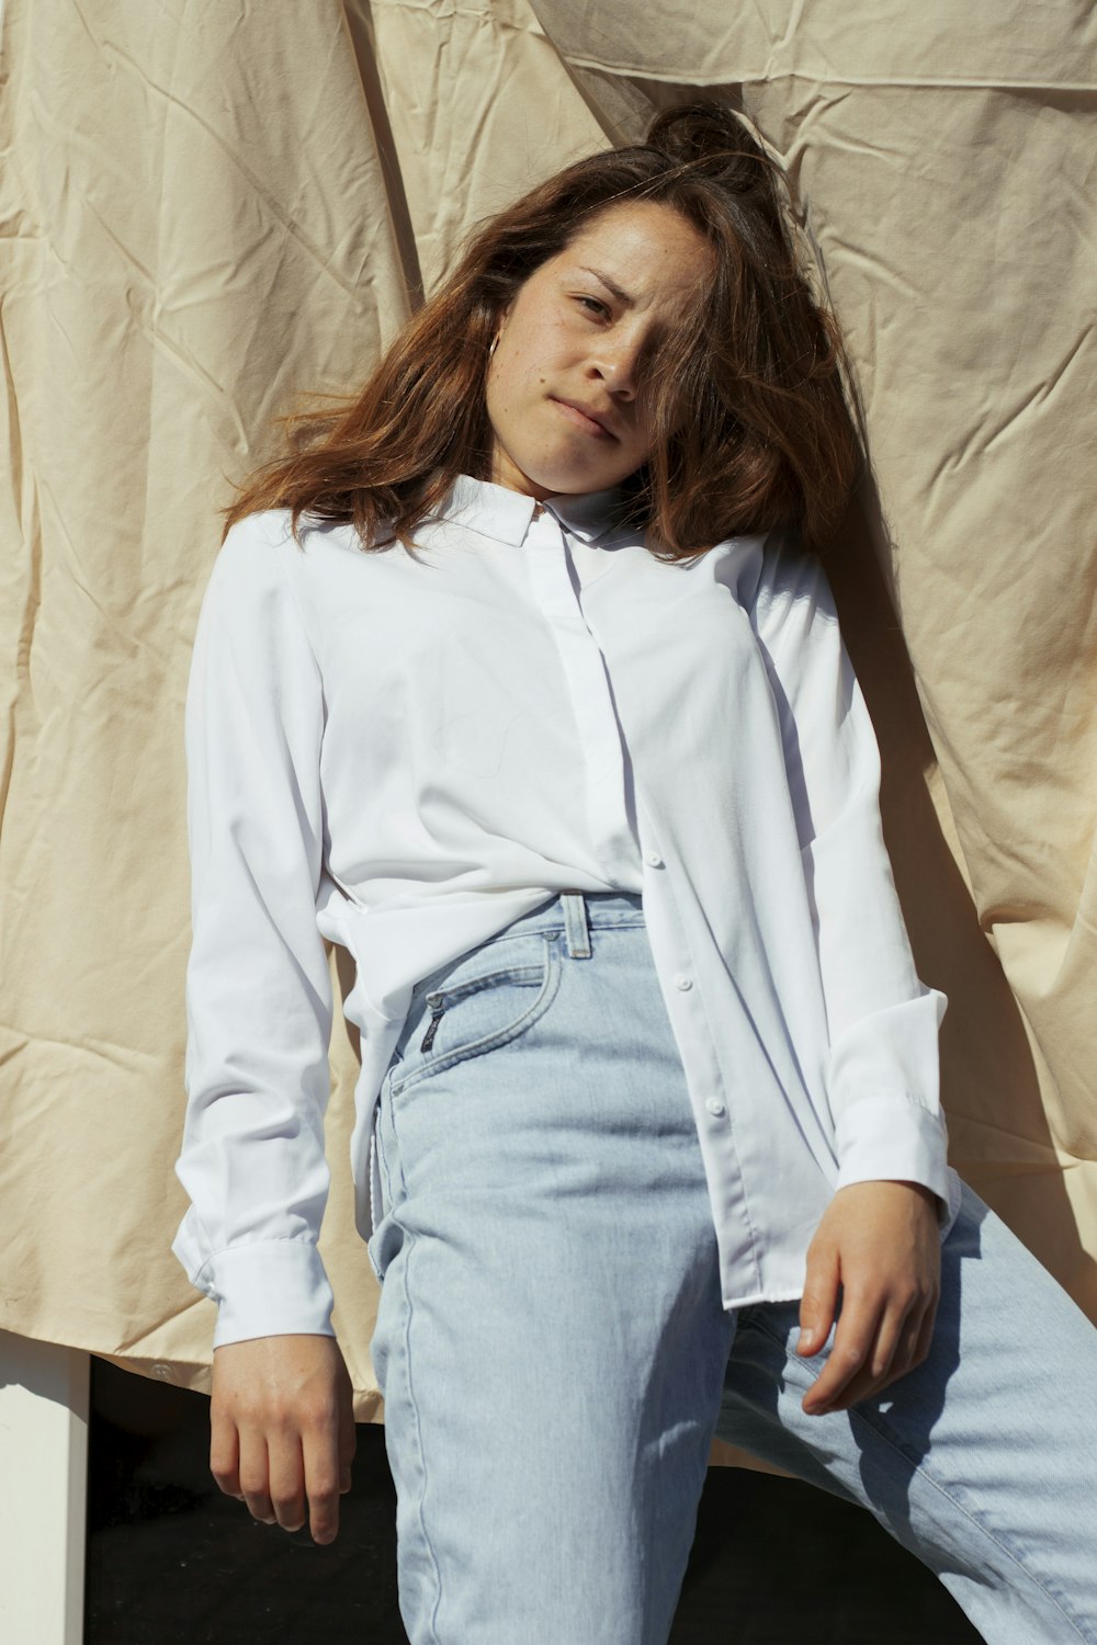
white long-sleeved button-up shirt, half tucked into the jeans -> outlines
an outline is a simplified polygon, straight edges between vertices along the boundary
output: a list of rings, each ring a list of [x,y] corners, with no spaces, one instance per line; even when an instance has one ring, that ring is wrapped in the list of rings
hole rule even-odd
[[[186,701],[191,1196],[173,1250],[214,1344],[331,1332],[316,1249],[332,1026],[357,962],[352,1171],[416,982],[561,890],[643,895],[727,1308],[803,1293],[835,1188],[959,1209],[937,1097],[944,995],[914,972],[878,753],[826,577],[780,535],[655,559],[613,492],[461,477],[363,553],[286,510],[227,535]]]

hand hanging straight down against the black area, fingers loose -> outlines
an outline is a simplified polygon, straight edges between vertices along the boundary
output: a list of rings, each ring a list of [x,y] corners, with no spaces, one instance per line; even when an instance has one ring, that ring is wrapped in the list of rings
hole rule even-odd
[[[336,1337],[252,1337],[214,1349],[209,1466],[253,1518],[296,1531],[308,1502],[312,1541],[334,1541],[354,1449],[350,1375]]]

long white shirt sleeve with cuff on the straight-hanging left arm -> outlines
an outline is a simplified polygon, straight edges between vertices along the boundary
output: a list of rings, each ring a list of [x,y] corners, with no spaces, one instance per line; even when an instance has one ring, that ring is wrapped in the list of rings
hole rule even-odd
[[[317,1252],[332,990],[316,923],[321,673],[285,554],[250,515],[202,597],[186,694],[191,951],[184,1137],[191,1198],[173,1252],[219,1304],[214,1347],[334,1336]]]

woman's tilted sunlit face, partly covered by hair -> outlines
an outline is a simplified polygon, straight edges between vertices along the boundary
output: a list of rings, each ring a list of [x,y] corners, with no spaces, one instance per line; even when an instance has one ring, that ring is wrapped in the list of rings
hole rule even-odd
[[[607,207],[541,263],[488,364],[492,480],[541,498],[633,474],[651,451],[638,373],[711,266],[697,229],[651,201]]]

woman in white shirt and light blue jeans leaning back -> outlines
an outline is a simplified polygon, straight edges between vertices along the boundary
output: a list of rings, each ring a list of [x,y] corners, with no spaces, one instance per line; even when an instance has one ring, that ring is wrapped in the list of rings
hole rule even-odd
[[[666,1640],[714,1433],[865,1502],[995,1645],[1097,1640],[1097,1332],[946,1165],[812,554],[842,368],[775,168],[678,109],[480,229],[229,510],[174,1249],[217,1482],[331,1541],[342,943],[413,1645]]]

